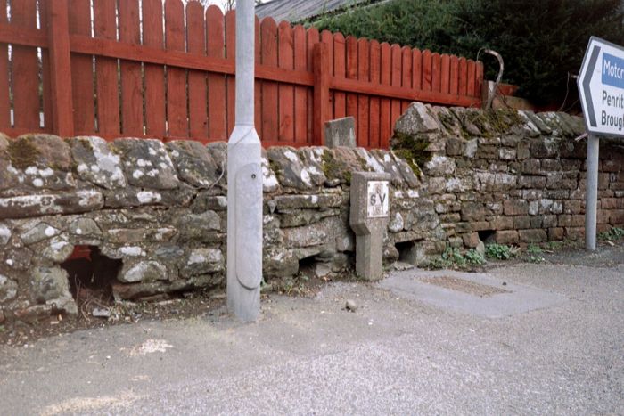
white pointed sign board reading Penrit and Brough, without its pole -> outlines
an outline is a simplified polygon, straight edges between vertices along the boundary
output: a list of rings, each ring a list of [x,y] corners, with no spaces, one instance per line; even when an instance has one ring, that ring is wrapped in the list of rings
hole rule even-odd
[[[624,137],[624,47],[591,37],[577,82],[587,131]]]

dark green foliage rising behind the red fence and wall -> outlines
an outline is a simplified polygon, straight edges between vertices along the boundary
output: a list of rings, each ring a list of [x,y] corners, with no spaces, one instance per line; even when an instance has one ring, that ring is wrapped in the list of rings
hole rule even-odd
[[[539,104],[561,103],[568,72],[578,73],[589,37],[624,44],[621,0],[393,0],[312,22],[345,36],[411,45],[475,59],[491,48],[505,60],[504,81]],[[480,54],[486,76],[498,64]],[[570,81],[571,94],[576,83]]]

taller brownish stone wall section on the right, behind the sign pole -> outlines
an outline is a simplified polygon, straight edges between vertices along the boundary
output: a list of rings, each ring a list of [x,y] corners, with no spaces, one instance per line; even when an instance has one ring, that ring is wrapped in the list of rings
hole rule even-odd
[[[413,103],[394,150],[422,167],[452,246],[584,237],[587,140],[565,113],[481,111]],[[601,140],[598,232],[624,224],[624,141]],[[395,213],[396,216],[402,212]]]

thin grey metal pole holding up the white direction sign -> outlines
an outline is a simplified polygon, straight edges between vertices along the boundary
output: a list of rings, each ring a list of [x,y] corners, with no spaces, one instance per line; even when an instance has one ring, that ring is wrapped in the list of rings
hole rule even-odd
[[[598,137],[587,135],[587,184],[585,191],[585,248],[595,251],[596,206],[598,205]]]

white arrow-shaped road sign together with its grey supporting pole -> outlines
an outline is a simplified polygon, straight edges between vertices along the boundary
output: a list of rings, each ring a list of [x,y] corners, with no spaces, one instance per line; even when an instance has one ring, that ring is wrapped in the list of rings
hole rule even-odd
[[[624,47],[591,37],[579,78],[587,126],[585,248],[595,250],[599,135],[624,137]]]

